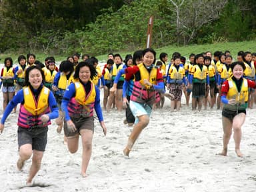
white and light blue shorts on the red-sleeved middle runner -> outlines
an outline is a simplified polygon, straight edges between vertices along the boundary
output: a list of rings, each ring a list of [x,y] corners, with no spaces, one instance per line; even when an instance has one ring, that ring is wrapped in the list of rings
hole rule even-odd
[[[152,106],[147,105],[145,103],[137,103],[135,101],[130,101],[129,103],[131,113],[133,113],[133,116],[135,117],[135,124],[139,122],[138,117],[141,115],[148,115],[150,117]]]

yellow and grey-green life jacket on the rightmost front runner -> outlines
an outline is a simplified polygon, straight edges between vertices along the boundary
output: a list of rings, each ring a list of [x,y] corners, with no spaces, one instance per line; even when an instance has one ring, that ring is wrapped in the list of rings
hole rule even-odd
[[[231,111],[243,110],[247,108],[247,101],[248,101],[248,81],[247,79],[243,78],[243,83],[241,85],[240,93],[237,90],[237,85],[233,79],[227,79],[229,82],[229,91],[227,92],[227,99],[235,99],[237,104],[229,105],[225,104],[224,108],[229,109]]]

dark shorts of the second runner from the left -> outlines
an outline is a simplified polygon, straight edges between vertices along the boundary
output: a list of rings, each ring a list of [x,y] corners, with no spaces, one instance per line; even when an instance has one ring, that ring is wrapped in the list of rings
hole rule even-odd
[[[77,131],[71,132],[69,129],[67,129],[67,122],[64,121],[64,133],[66,137],[71,137],[74,135],[77,135],[77,133],[80,133],[81,129],[88,129],[94,132],[94,117],[70,117],[73,123],[75,124],[75,128],[77,128]]]

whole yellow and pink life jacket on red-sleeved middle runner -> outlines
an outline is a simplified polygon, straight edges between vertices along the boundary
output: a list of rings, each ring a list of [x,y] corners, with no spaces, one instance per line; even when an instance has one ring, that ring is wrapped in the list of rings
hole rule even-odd
[[[157,85],[157,69],[153,67],[149,73],[143,63],[137,65],[137,67],[139,67],[141,80],[134,82],[131,101],[147,103],[149,105],[159,102],[159,92],[144,83],[144,79],[147,79],[152,85]]]

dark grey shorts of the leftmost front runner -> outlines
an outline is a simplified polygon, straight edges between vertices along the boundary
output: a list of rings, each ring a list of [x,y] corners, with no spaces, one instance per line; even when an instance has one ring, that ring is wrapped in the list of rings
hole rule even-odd
[[[33,150],[45,151],[47,132],[48,127],[35,127],[33,129],[18,127],[18,145],[21,147],[25,144],[31,144]]]

